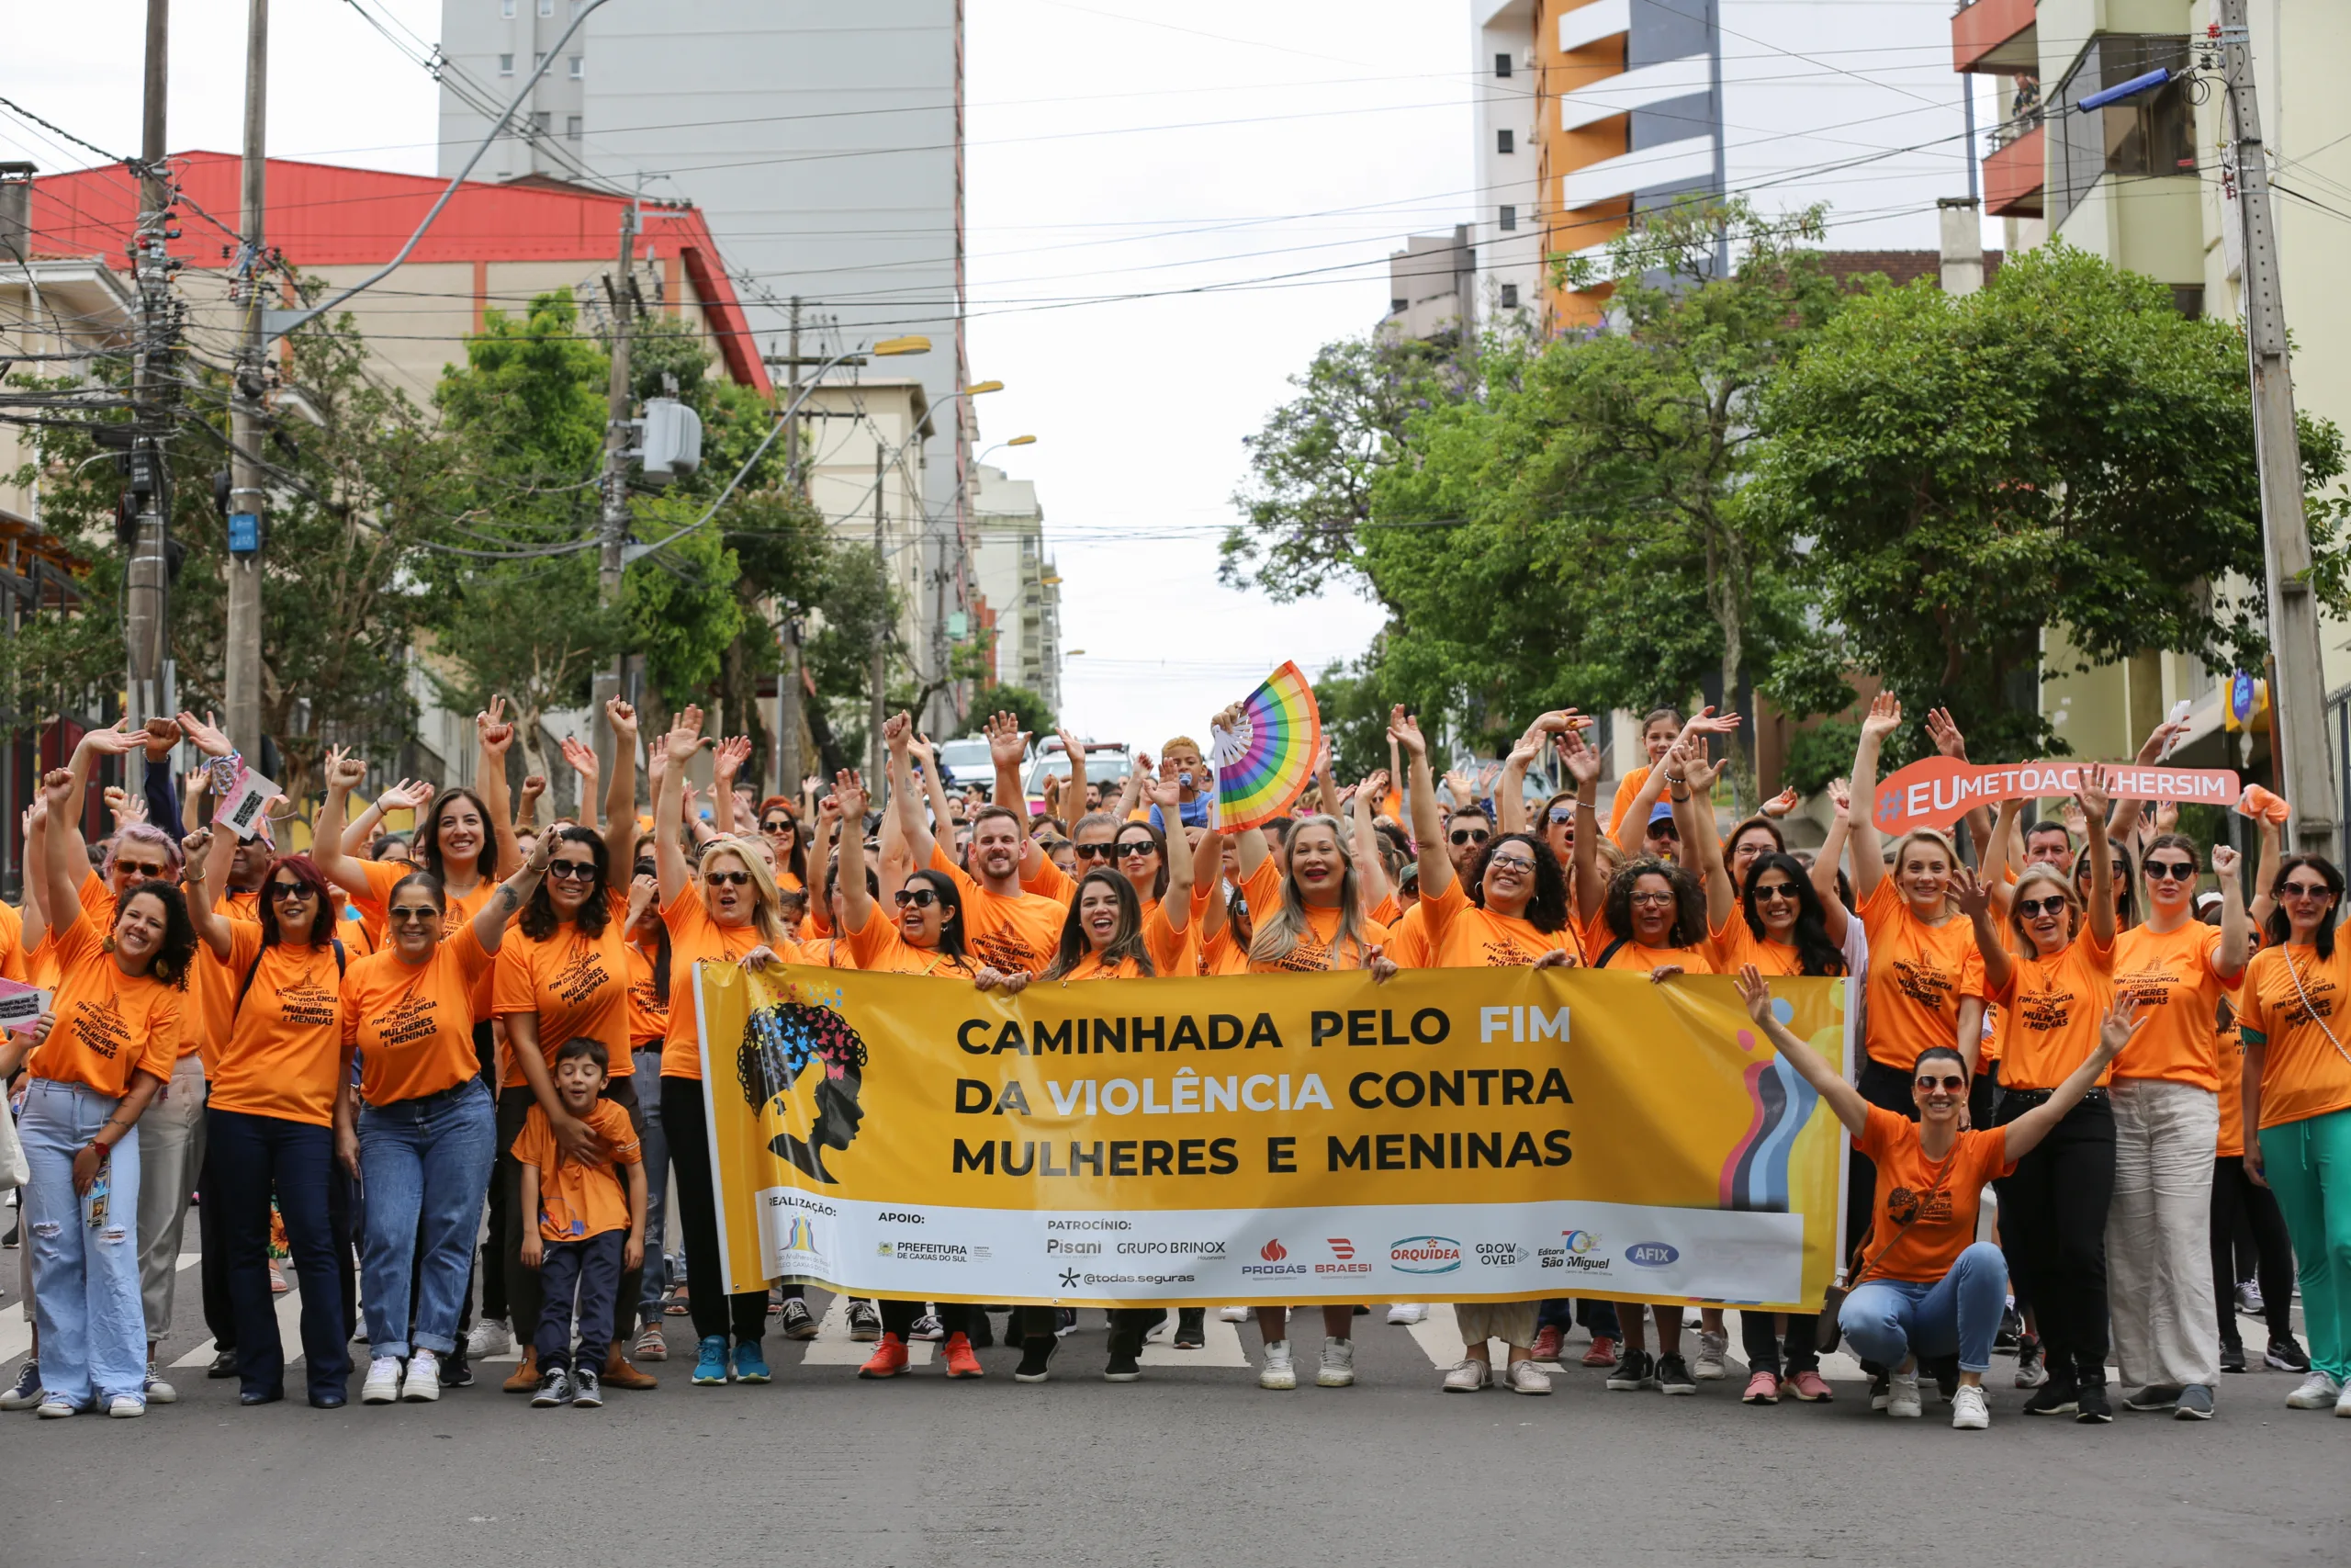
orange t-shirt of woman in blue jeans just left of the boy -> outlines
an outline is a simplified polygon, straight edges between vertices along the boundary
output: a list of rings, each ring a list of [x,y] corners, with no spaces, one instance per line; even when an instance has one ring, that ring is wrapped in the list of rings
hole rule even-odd
[[[465,922],[423,964],[386,947],[343,971],[343,1044],[360,1051],[362,1100],[397,1105],[482,1074],[473,990],[489,969],[491,954]]]

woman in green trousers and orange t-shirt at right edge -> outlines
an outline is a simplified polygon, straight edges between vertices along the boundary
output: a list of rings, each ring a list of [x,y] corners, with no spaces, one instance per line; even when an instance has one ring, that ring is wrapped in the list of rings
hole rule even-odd
[[[2245,971],[2245,1178],[2278,1194],[2302,1265],[2311,1371],[2295,1410],[2351,1415],[2351,1041],[2335,1001],[2351,990],[2337,938],[2344,875],[2323,856],[2285,856],[2269,884],[2262,952]]]

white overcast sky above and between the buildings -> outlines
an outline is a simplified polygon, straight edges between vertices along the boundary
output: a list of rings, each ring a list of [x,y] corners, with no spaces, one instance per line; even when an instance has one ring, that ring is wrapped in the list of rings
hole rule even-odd
[[[367,2],[423,40],[440,31],[437,0]],[[1820,2],[1834,16],[1836,0]],[[1878,2],[1933,28],[1949,9]],[[136,150],[143,9],[14,7],[0,94]],[[172,9],[169,143],[235,150],[245,0]],[[1914,47],[1900,66],[1930,54]],[[1215,541],[1244,480],[1241,437],[1284,378],[1380,320],[1385,256],[1404,235],[1469,216],[1467,5],[969,0],[966,63],[971,374],[1006,383],[980,404],[983,444],[1037,435],[990,461],[1034,480],[1046,512],[1063,646],[1084,649],[1067,663],[1065,717],[1157,748],[1199,733],[1279,661],[1319,672],[1378,630],[1354,595],[1274,607],[1220,588]],[[273,153],[428,174],[435,92],[353,5],[273,7]],[[92,162],[5,113],[0,155]],[[1241,287],[1006,308],[1197,284]]]

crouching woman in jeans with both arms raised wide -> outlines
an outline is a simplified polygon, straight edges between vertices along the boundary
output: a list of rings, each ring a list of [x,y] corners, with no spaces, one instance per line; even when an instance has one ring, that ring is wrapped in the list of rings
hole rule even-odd
[[[1853,1133],[1853,1147],[1876,1161],[1871,1232],[1836,1321],[1857,1356],[1893,1368],[1886,1413],[1918,1418],[1925,1408],[1918,1401],[1918,1361],[1956,1349],[1951,1425],[1982,1432],[1991,1425],[1984,1371],[1991,1366],[1991,1335],[2001,1326],[2008,1281],[2001,1248],[1975,1241],[1984,1180],[2015,1171],[2064,1121],[2144,1023],[2137,1004],[2123,1001],[2104,1018],[2097,1048],[2045,1100],[2001,1128],[1961,1131],[1968,1063],[1956,1046],[1928,1046],[1918,1053],[1911,1065],[1918,1119],[1909,1121],[1864,1100],[1836,1067],[1780,1023],[1770,985],[1754,964],[1740,969],[1737,985],[1747,1016],[1820,1091]]]

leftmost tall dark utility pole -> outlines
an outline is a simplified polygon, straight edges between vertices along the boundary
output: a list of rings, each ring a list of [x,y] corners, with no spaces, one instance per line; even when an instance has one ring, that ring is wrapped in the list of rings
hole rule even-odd
[[[129,491],[134,508],[132,559],[122,599],[127,646],[127,717],[139,724],[160,712],[165,649],[169,646],[169,588],[165,564],[169,538],[167,437],[172,402],[172,261],[165,242],[172,228],[172,186],[165,179],[165,87],[172,63],[172,5],[148,0],[146,101],[139,134],[139,230],[132,237],[132,277],[139,289],[139,350],[132,367],[134,421]],[[129,783],[129,780],[125,780]]]

